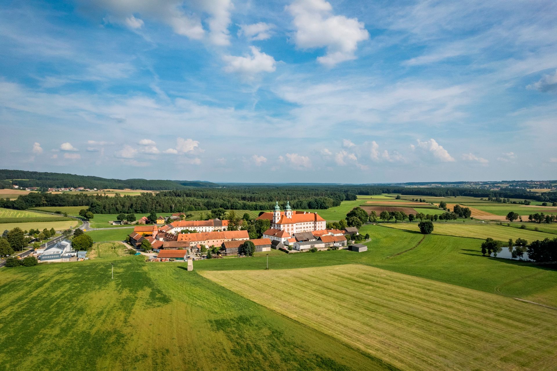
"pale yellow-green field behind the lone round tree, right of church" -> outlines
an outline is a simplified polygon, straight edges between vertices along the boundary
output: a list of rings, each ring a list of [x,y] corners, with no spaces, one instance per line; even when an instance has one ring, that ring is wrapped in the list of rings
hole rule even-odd
[[[383,223],[381,226],[398,228],[405,231],[418,232],[417,223]],[[509,238],[525,238],[528,242],[534,240],[543,240],[544,238],[553,238],[549,233],[536,232],[530,230],[521,230],[520,228],[512,228],[499,226],[497,224],[480,224],[480,223],[443,223],[433,224],[433,233],[436,235],[471,237],[485,239],[491,237],[498,241],[509,241]]]

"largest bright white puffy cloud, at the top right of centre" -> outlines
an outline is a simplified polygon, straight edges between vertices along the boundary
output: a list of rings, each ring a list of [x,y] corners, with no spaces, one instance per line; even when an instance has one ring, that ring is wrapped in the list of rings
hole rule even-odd
[[[358,42],[369,38],[364,23],[357,18],[335,16],[331,4],[324,0],[297,0],[286,9],[294,17],[296,47],[326,47],[325,56],[317,58],[326,66],[355,59]]]

